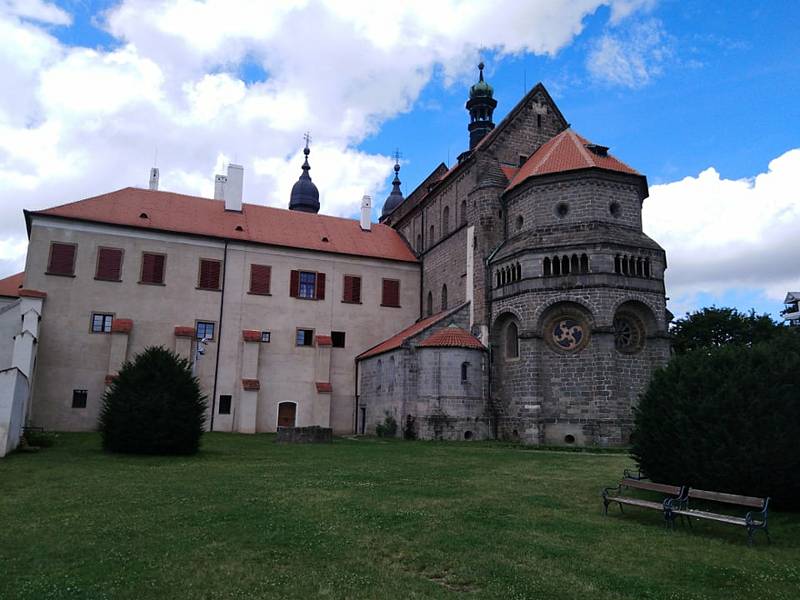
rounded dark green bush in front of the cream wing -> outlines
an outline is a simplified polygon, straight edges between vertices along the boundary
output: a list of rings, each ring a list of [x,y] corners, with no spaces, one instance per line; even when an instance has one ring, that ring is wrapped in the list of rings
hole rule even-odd
[[[131,454],[194,454],[205,426],[206,398],[189,361],[146,348],[122,366],[103,396],[103,448]]]

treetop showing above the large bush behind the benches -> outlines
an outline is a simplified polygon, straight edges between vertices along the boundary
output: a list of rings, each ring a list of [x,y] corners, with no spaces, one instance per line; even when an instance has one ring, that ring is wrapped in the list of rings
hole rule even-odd
[[[706,307],[686,313],[672,326],[672,348],[685,354],[697,348],[718,348],[727,344],[751,345],[766,341],[786,328],[755,310],[742,313],[735,308]]]

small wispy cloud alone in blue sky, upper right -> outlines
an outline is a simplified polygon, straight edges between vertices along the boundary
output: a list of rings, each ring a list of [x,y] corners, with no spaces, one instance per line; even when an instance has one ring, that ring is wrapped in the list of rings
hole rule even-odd
[[[659,75],[671,54],[671,41],[661,23],[648,19],[601,36],[586,66],[596,81],[636,88]]]

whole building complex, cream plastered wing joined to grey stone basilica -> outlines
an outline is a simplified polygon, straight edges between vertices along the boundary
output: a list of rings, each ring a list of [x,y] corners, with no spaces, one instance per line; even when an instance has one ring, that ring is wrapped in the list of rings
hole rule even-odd
[[[469,91],[469,149],[379,223],[318,214],[306,144],[288,210],[128,187],[25,211],[0,280],[0,456],[24,425],[92,430],[125,361],[193,363],[214,431],[624,444],[670,348],[647,180],[573,131],[536,85],[495,126]],[[61,204],[58,204],[61,202]],[[63,204],[63,202],[67,202]],[[79,351],[76,351],[79,349]],[[203,350],[204,352],[200,352]]]

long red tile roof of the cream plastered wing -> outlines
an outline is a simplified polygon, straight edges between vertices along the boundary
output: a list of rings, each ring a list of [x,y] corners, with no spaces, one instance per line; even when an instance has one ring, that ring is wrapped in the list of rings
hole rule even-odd
[[[371,231],[362,231],[357,220],[258,204],[244,204],[241,213],[226,211],[222,200],[172,192],[128,187],[30,214],[417,262],[402,236],[386,225],[373,223]]]

